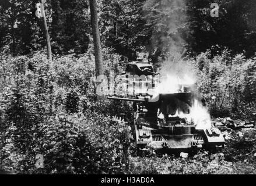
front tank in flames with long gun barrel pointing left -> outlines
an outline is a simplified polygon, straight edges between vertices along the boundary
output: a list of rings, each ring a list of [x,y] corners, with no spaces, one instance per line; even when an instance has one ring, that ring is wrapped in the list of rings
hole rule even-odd
[[[173,113],[174,108],[190,113],[188,108],[194,96],[191,92],[159,94],[156,102],[150,102],[150,96],[138,96],[136,99],[108,98],[134,102],[132,126],[138,147],[150,145],[155,149],[188,149],[214,148],[216,145],[223,145],[225,140],[218,128],[197,129],[195,123]],[[176,103],[181,104],[176,105]],[[157,110],[162,111],[163,117],[157,115]]]

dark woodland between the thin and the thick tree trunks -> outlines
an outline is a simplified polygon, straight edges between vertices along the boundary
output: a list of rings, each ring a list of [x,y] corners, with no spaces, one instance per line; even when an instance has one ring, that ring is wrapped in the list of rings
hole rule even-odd
[[[52,52],[65,55],[81,54],[87,51],[92,33],[89,1],[51,0],[47,1],[52,22],[48,24]]]

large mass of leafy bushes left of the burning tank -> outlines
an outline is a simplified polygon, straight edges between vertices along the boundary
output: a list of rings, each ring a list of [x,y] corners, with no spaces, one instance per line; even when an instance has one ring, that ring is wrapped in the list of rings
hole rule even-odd
[[[104,49],[104,58],[109,70],[121,70],[118,55]],[[31,58],[2,53],[1,169],[15,173],[124,173],[130,128],[108,115],[108,111],[113,116],[117,113],[113,102],[94,102],[92,59],[90,53],[62,56],[52,62],[40,52]],[[35,167],[37,154],[44,156],[43,170]]]

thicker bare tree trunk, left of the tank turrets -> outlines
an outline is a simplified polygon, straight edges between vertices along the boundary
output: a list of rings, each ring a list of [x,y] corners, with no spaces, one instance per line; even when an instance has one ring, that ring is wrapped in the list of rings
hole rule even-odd
[[[93,28],[93,44],[94,44],[94,55],[95,55],[95,70],[96,76],[103,74],[103,60],[101,53],[100,45],[100,32],[98,25],[98,16],[97,16],[97,3],[96,0],[90,1],[90,15]]]

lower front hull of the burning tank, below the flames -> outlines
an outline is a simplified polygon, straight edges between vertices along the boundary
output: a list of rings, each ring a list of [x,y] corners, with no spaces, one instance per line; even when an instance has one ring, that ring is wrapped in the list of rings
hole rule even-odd
[[[218,130],[216,128],[197,130],[194,124],[167,123],[160,126],[142,120],[134,120],[134,135],[138,147],[148,145],[153,149],[200,149],[225,143],[223,135],[218,131],[211,134],[208,132]]]

